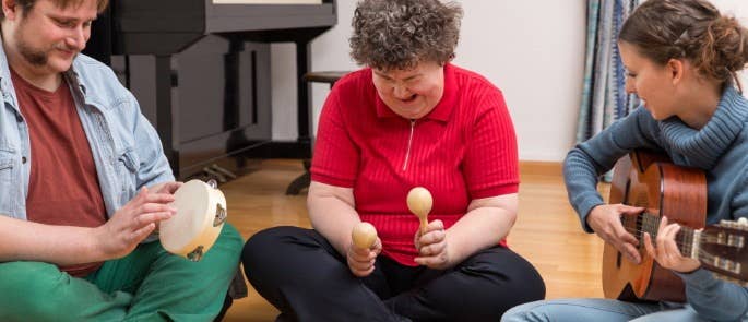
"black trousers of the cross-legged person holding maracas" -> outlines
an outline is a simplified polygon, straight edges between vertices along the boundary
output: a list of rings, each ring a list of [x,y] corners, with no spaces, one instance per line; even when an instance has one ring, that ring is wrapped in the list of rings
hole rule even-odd
[[[316,230],[275,227],[252,236],[241,260],[254,289],[293,321],[496,322],[545,297],[532,264],[498,246],[449,270],[380,255],[375,272],[358,278]]]

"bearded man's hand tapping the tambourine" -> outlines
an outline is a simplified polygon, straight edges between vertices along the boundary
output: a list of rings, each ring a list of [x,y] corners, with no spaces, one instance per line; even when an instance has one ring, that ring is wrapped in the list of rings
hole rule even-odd
[[[167,184],[168,187],[169,186]],[[168,205],[174,201],[171,188],[161,187],[161,193],[141,191],[119,208],[104,225],[94,229],[96,247],[107,259],[129,254],[156,228],[156,223],[170,218],[176,210]]]

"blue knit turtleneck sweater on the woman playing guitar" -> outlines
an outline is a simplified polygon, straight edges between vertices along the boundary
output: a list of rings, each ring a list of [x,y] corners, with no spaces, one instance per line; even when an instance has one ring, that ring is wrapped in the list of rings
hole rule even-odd
[[[733,86],[726,86],[716,111],[700,130],[677,117],[657,121],[644,108],[579,144],[569,152],[563,177],[569,201],[586,224],[590,211],[603,204],[596,190],[597,178],[616,160],[636,148],[662,151],[673,163],[704,170],[708,181],[707,223],[748,217],[748,100]],[[710,320],[734,321],[748,311],[748,290],[715,279],[698,270],[679,274],[686,283],[688,302]]]

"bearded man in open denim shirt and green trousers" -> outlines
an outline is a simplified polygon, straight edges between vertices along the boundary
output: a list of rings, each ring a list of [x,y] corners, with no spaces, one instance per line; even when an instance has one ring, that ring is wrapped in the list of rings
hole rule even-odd
[[[0,321],[209,321],[242,241],[149,238],[181,184],[138,102],[80,55],[107,0],[1,0]]]

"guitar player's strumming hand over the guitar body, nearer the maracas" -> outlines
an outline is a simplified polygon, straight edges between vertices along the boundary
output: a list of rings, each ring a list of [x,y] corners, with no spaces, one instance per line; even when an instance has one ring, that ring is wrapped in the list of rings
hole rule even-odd
[[[641,254],[637,248],[639,240],[626,231],[620,217],[638,215],[643,211],[643,207],[625,204],[601,204],[590,211],[586,222],[599,238],[618,249],[629,261],[639,264],[641,262]]]

